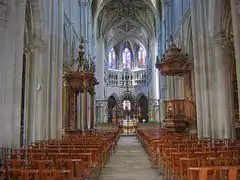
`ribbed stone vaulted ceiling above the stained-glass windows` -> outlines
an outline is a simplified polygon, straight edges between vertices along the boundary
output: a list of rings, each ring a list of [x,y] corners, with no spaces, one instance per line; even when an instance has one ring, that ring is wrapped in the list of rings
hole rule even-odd
[[[147,47],[156,35],[159,5],[152,0],[101,0],[93,8],[98,32],[111,48],[124,40]]]

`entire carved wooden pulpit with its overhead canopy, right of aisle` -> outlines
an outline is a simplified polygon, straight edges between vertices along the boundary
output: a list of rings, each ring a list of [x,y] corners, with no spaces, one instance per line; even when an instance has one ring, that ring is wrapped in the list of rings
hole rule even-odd
[[[163,76],[183,76],[184,86],[191,88],[188,55],[173,44],[172,37],[170,39],[171,44],[161,61],[157,57],[156,68]],[[164,101],[166,128],[176,132],[184,132],[188,125],[196,124],[196,107],[191,96],[190,93],[190,96],[187,97],[186,92],[184,92],[184,99]]]

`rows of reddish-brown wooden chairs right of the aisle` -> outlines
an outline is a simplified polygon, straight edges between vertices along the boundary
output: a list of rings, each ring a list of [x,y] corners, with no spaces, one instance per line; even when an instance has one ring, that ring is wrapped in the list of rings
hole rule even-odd
[[[166,129],[138,129],[137,137],[164,180],[240,180],[240,141]]]

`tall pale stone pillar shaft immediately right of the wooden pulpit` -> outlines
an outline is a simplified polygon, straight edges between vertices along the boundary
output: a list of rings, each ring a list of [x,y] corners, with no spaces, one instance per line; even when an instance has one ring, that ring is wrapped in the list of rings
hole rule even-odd
[[[200,138],[208,136],[206,130],[209,131],[209,126],[205,123],[208,120],[208,104],[206,102],[206,70],[204,55],[204,27],[203,8],[200,9],[199,1],[191,1],[191,23],[193,36],[193,56],[194,56],[194,76],[196,86],[196,110],[197,110],[197,130]],[[200,37],[200,38],[199,38]],[[205,129],[206,128],[206,129]]]

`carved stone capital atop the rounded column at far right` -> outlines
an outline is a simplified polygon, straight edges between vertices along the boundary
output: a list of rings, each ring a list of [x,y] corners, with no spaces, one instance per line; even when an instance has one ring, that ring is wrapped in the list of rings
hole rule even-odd
[[[223,48],[233,49],[233,42],[224,32],[220,32],[213,37],[213,42],[220,44]]]

